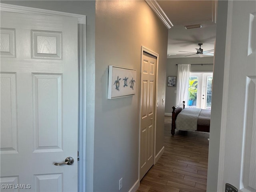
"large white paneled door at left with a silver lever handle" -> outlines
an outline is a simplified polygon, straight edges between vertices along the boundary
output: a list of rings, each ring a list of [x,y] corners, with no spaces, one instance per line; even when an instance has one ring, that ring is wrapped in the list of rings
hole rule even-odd
[[[77,191],[77,33],[76,18],[1,12],[1,191]]]

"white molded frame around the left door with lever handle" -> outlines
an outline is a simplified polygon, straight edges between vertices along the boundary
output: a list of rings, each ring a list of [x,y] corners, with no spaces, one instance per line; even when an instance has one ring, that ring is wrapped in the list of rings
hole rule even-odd
[[[67,12],[0,3],[1,11],[48,16],[68,16],[77,18],[78,24],[78,191],[86,191],[86,16]],[[85,153],[82,153],[84,152]]]

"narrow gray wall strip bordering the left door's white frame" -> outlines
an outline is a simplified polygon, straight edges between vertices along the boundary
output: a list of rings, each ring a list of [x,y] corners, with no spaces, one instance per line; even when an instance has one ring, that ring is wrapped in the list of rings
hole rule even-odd
[[[93,190],[94,92],[95,92],[95,1],[2,1],[15,4],[86,15],[86,190]],[[82,152],[80,152],[81,154]],[[80,163],[82,163],[80,161]],[[84,162],[83,162],[84,163]]]

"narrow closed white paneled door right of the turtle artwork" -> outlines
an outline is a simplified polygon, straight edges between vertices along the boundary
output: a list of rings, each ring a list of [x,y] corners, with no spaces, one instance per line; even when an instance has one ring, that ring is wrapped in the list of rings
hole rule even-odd
[[[140,179],[154,164],[156,57],[143,52],[140,94]]]

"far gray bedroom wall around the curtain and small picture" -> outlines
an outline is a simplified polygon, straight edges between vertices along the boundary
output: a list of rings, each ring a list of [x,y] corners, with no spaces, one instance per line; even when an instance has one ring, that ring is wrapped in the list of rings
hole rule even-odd
[[[166,66],[166,103],[165,103],[165,112],[172,113],[172,106],[176,106],[176,87],[167,86],[168,76],[177,76],[178,75],[178,66],[176,64],[209,64],[213,63],[213,57],[186,57],[186,58],[171,58],[167,59]],[[191,72],[212,72],[213,65],[191,65]]]

